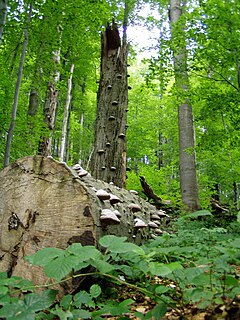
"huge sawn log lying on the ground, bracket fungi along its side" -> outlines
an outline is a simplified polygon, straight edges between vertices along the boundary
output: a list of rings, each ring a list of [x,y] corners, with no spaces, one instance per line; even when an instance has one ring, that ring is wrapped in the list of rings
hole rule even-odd
[[[0,271],[35,284],[47,278],[24,257],[44,247],[97,246],[107,234],[140,244],[161,233],[163,212],[133,192],[93,179],[79,165],[26,157],[0,171],[0,181]]]

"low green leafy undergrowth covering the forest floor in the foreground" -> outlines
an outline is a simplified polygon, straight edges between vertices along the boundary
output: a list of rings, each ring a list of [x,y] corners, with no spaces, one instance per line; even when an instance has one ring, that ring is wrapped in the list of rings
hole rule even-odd
[[[98,320],[106,315],[130,319],[134,314],[139,319],[161,319],[173,310],[180,319],[191,307],[221,307],[227,313],[240,295],[240,237],[231,228],[207,228],[207,217],[202,215],[200,211],[178,219],[174,232],[143,246],[108,235],[99,241],[101,250],[74,243],[66,250],[45,248],[26,257],[28,263],[44,269],[49,282],[34,286],[0,273],[0,318]],[[198,221],[199,216],[203,220]],[[238,224],[234,224],[235,231]],[[80,277],[91,279],[88,289],[60,299],[51,289]],[[123,287],[150,298],[152,309],[134,312],[133,299],[118,297]],[[114,300],[109,300],[111,289],[115,289]]]

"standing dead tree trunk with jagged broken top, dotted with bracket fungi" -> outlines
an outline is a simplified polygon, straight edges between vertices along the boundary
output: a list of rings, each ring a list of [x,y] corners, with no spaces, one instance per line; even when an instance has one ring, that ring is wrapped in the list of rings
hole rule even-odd
[[[126,184],[126,122],[128,108],[126,41],[121,46],[116,24],[102,34],[101,79],[91,172],[94,178]]]

